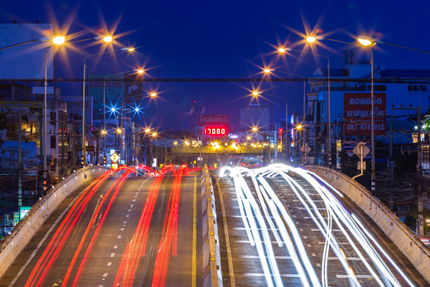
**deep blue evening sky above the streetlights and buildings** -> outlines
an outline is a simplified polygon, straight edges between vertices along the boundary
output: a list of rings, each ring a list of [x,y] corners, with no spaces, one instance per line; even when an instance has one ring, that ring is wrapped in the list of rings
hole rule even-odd
[[[409,4],[409,6],[408,6]],[[147,63],[154,78],[246,78],[259,72],[256,65],[273,63],[282,70],[308,77],[322,59],[306,56],[282,61],[271,54],[278,42],[296,44],[301,37],[292,30],[318,27],[330,38],[353,42],[353,35],[373,34],[379,39],[430,50],[429,1],[1,1],[0,23],[41,23],[55,20],[57,27],[70,23],[68,34],[86,29],[97,30],[105,23],[124,45],[142,46],[138,56],[117,56],[89,63],[90,72],[122,72]],[[292,28],[292,29],[289,29]],[[83,36],[86,37],[86,36]],[[344,44],[324,42],[329,49],[318,53],[330,56],[332,68],[341,68]],[[303,45],[297,46],[302,49]],[[360,50],[360,49],[358,49]],[[81,53],[70,51],[67,62],[59,60],[58,77],[82,77],[85,54],[96,53],[98,46]],[[358,58],[367,53],[356,51]],[[386,68],[430,68],[430,55],[379,46],[375,63]],[[79,94],[63,89],[62,94]],[[153,84],[157,87],[157,84]],[[155,115],[153,125],[161,129],[190,129],[191,106],[205,114],[227,114],[230,125],[238,126],[241,106],[247,106],[252,85],[248,82],[163,82],[158,85],[164,101],[148,108]],[[267,94],[286,96],[289,111],[302,110],[301,83],[263,84]],[[283,103],[272,98],[261,101],[271,105],[271,120],[285,117]],[[167,112],[167,113],[166,113]],[[179,119],[179,120],[178,120]],[[149,120],[147,117],[145,120]]]

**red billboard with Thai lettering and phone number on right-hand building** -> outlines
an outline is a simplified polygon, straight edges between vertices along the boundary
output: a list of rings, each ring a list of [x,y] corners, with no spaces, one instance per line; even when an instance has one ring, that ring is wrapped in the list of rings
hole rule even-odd
[[[370,93],[344,94],[344,134],[372,134]],[[374,134],[386,133],[386,94],[374,93]]]

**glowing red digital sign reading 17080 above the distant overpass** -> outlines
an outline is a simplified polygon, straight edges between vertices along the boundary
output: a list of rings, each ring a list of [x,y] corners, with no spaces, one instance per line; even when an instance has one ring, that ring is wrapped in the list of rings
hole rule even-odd
[[[228,135],[228,115],[200,115],[195,132],[204,137]]]

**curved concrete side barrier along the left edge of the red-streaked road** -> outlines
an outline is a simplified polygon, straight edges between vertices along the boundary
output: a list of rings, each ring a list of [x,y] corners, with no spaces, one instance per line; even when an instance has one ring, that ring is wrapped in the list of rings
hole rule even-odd
[[[107,170],[109,168],[104,166],[79,169],[58,182],[48,191],[46,196],[42,196],[34,203],[27,215],[13,227],[11,233],[0,243],[0,278],[58,205],[79,186],[96,179]]]

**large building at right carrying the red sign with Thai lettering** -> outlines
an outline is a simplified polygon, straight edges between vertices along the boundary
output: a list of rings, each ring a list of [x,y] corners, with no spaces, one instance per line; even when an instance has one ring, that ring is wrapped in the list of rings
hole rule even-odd
[[[332,153],[337,141],[370,143],[372,132],[370,62],[354,60],[353,50],[346,50],[344,56],[343,68],[330,69]],[[375,141],[389,144],[392,139],[398,150],[412,144],[417,108],[421,107],[421,113],[425,113],[429,107],[429,78],[430,70],[389,70],[383,65],[374,65]],[[308,84],[307,141],[315,163],[325,164],[329,121],[327,69],[316,69]],[[352,150],[353,145],[344,146],[348,148]]]

